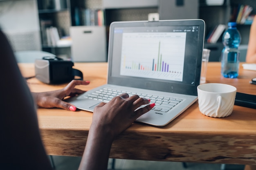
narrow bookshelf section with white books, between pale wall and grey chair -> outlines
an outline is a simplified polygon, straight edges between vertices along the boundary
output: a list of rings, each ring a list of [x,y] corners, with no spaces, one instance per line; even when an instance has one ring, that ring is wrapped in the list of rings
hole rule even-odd
[[[70,4],[67,0],[37,0],[42,51],[70,57]]]

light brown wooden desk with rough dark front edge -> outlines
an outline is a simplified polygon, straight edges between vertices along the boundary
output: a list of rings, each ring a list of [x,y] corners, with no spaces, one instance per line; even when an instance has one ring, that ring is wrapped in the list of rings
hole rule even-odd
[[[240,64],[241,65],[241,64]],[[20,64],[25,77],[34,75],[33,64]],[[75,63],[91,83],[78,88],[89,90],[106,83],[107,63]],[[236,86],[238,92],[256,95],[249,80],[255,71],[240,68],[238,79],[220,75],[220,63],[209,63],[207,83]],[[50,91],[66,84],[51,86],[29,79],[31,91]],[[38,121],[49,155],[81,156],[86,143],[92,113],[63,109],[38,108]],[[256,110],[234,106],[229,117],[202,115],[195,102],[189,109],[164,127],[135,122],[113,143],[110,157],[154,161],[256,164]]]

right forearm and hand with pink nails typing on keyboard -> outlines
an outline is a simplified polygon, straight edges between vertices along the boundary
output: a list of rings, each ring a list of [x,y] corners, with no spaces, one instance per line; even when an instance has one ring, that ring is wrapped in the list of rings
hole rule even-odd
[[[113,140],[138,117],[155,106],[155,104],[150,104],[136,110],[139,106],[149,102],[149,99],[139,98],[138,95],[129,97],[124,93],[107,104],[101,103],[94,108],[92,125],[79,170],[107,169]],[[101,160],[101,162],[95,160]]]

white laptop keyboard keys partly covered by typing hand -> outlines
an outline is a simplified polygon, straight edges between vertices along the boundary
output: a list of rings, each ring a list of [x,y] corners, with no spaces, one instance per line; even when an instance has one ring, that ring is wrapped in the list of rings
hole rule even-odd
[[[121,95],[123,93],[128,93],[129,96],[139,95],[139,97],[144,97],[150,99],[150,103],[155,103],[155,107],[153,110],[160,112],[168,112],[173,107],[177,106],[182,102],[182,99],[172,98],[172,97],[164,97],[164,96],[156,96],[156,95],[147,95],[143,93],[134,93],[128,91],[119,91],[110,88],[102,88],[98,91],[90,93],[85,96],[88,99],[99,100],[102,102],[109,102],[113,97]]]

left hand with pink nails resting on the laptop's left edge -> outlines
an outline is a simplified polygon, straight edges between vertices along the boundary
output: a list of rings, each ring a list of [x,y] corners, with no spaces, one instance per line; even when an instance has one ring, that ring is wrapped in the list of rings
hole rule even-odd
[[[75,96],[85,91],[75,88],[77,85],[88,85],[90,82],[82,80],[72,80],[67,86],[61,90],[48,91],[41,93],[32,93],[36,104],[43,108],[63,108],[65,110],[75,111],[76,106],[64,102],[64,97]]]

